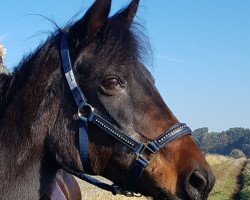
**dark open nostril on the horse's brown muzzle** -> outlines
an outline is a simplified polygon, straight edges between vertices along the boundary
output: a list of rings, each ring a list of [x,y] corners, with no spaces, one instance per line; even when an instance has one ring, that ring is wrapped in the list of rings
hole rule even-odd
[[[207,181],[204,176],[201,172],[195,170],[186,182],[186,191],[191,199],[200,199],[206,185]]]

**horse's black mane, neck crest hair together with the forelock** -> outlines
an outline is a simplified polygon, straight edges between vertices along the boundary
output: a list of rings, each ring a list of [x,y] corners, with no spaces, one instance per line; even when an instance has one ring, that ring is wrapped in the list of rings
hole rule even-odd
[[[130,28],[126,27],[114,17],[109,18],[109,23],[104,28],[103,41],[98,49],[98,67],[88,73],[89,81],[99,74],[100,70],[106,70],[109,63],[121,63],[121,65],[133,66],[133,60],[139,62],[150,61],[152,51],[148,38],[145,36],[144,26],[133,22]],[[17,67],[10,75],[0,75],[0,111],[4,110],[8,100],[15,94],[15,91],[22,89],[25,83],[34,77],[39,67],[49,63],[50,67],[61,66],[60,61],[60,39],[64,32],[68,32],[73,22],[64,29],[57,29],[48,36],[47,40],[41,43],[34,52],[24,56]],[[107,59],[109,58],[109,59]]]

